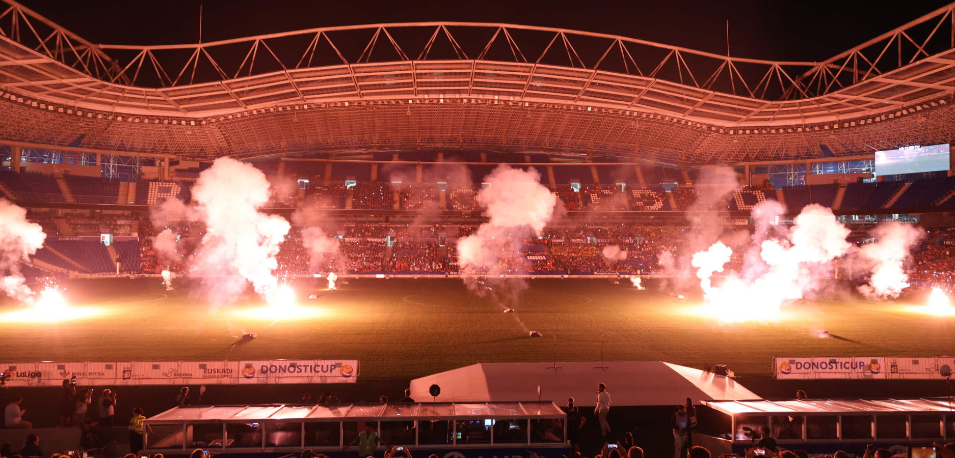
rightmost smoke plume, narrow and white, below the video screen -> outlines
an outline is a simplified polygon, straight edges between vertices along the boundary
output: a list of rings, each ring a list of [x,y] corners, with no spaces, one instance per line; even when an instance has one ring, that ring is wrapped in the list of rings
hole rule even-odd
[[[876,241],[863,245],[859,249],[859,258],[869,263],[872,276],[868,284],[859,286],[859,292],[869,299],[898,298],[908,287],[903,261],[925,234],[901,222],[881,223],[871,234]]]

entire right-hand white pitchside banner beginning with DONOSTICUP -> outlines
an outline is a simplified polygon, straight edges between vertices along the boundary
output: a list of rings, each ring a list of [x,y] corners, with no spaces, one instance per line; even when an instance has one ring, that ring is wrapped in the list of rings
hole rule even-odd
[[[799,357],[775,358],[777,379],[943,379],[939,369],[955,358],[933,357]]]

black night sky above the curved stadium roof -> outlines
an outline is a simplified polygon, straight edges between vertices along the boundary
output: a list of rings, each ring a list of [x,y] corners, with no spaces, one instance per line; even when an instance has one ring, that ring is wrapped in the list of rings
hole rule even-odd
[[[378,22],[475,21],[598,31],[726,52],[823,60],[944,6],[942,1],[20,0],[94,43],[159,45]]]

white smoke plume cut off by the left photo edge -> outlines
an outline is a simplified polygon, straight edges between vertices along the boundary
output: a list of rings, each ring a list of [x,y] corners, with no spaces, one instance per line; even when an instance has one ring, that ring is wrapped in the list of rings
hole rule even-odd
[[[29,261],[43,246],[43,227],[27,220],[27,210],[0,198],[0,288],[11,298],[26,302],[33,292],[20,273],[20,261]]]

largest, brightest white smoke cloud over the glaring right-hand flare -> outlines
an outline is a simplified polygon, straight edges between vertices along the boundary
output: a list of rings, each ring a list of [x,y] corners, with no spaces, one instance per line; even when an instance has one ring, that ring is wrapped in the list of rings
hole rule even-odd
[[[775,213],[769,207],[775,203],[763,205],[767,207],[753,210],[754,216]],[[698,269],[704,298],[720,320],[773,320],[784,304],[817,291],[831,278],[832,260],[852,248],[846,241],[850,232],[830,209],[807,205],[787,235],[754,245],[758,257],[744,259],[741,270],[730,272],[721,284],[712,284],[712,275],[732,257],[732,249],[722,241],[694,255],[692,264]]]

